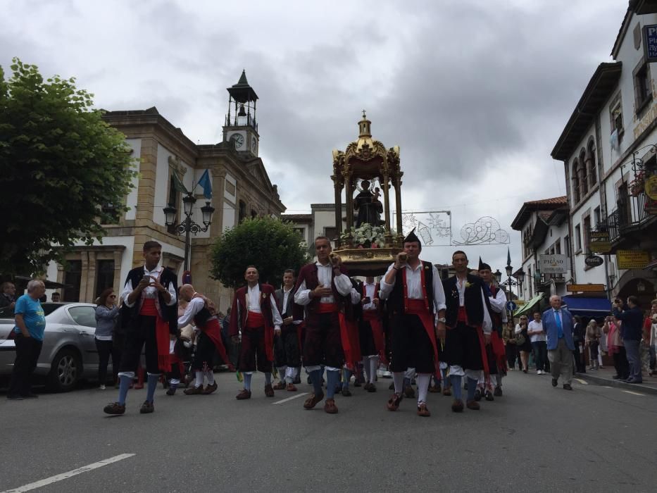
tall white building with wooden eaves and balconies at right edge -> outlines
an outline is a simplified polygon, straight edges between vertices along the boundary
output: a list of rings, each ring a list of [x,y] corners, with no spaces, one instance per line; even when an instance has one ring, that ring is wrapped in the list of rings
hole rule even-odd
[[[645,187],[657,174],[657,87],[646,46],[654,25],[656,3],[630,1],[613,62],[596,69],[551,153],[563,161],[573,281],[644,303],[657,282],[657,196]],[[591,254],[601,265],[587,263]]]

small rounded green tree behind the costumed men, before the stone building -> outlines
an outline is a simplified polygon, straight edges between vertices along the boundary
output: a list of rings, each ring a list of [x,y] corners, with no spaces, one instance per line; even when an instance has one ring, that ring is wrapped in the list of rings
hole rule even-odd
[[[246,219],[226,230],[211,257],[211,277],[232,288],[244,285],[247,266],[258,268],[262,282],[278,283],[285,269],[298,273],[309,259],[292,223],[270,217]]]

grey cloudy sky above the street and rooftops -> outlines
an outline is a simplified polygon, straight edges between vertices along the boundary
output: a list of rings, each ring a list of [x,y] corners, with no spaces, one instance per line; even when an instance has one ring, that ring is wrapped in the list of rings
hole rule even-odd
[[[593,5],[595,4],[595,6]],[[452,212],[453,236],[565,194],[550,151],[626,0],[0,0],[0,65],[77,77],[109,110],[157,106],[194,142],[221,139],[242,68],[259,96],[260,153],[288,213],[332,202],[332,149],[401,147],[405,211]],[[304,177],[303,182],[296,179]],[[425,250],[435,262],[449,247]],[[503,271],[506,246],[467,249]]]

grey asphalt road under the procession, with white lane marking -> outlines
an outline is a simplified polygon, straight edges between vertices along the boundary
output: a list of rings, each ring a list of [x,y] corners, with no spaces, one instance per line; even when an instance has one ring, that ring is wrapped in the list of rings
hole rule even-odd
[[[131,390],[115,417],[102,412],[114,389],[0,395],[0,491],[90,465],[32,491],[657,490],[656,396],[579,382],[568,392],[511,372],[504,397],[481,411],[455,414],[450,397],[430,394],[432,416],[420,418],[411,399],[386,411],[390,380],[380,378],[379,392],[352,389],[328,415],[304,410],[306,396],[275,404],[295,394],[265,397],[260,374],[251,400],[237,401],[234,375],[216,376],[209,396],[167,397],[159,386],[150,415],[139,414],[144,390]]]

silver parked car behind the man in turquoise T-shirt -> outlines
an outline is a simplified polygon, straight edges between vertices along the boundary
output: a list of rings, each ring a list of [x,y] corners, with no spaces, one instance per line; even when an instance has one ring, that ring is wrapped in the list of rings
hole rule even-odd
[[[46,385],[57,392],[68,392],[81,378],[96,378],[96,305],[42,303],[42,306],[46,315],[46,332],[35,375],[46,377]],[[13,311],[2,308],[0,376],[11,375],[13,369],[16,354],[13,327]],[[111,364],[108,371],[111,371]]]

